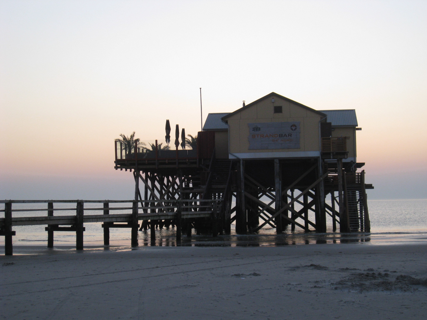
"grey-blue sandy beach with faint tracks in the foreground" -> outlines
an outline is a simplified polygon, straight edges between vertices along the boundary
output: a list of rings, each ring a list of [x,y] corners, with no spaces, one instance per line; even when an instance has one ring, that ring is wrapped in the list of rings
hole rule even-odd
[[[426,319],[427,245],[0,257],[0,319]]]

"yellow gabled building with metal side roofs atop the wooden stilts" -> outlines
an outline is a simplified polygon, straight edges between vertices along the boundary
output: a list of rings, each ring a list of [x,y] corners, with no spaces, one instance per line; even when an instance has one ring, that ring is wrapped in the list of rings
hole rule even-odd
[[[314,110],[270,93],[231,113],[209,113],[203,131],[215,132],[217,158],[322,156],[322,137],[345,139],[343,162],[356,163],[355,110]]]

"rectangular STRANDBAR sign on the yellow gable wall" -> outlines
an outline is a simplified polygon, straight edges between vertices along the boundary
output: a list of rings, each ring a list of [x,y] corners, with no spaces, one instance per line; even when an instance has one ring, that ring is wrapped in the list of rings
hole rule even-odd
[[[249,149],[299,149],[300,122],[248,123]]]

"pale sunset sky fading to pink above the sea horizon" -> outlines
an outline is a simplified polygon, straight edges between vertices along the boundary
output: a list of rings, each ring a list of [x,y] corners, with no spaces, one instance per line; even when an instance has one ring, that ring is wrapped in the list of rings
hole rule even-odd
[[[114,138],[274,91],[356,109],[370,199],[427,198],[427,1],[0,0],[0,198],[131,199]]]

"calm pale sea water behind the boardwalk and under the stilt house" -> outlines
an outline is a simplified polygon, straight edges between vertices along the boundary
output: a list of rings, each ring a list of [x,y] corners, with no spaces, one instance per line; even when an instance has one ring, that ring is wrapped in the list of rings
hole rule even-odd
[[[126,204],[126,206],[129,204]],[[69,209],[55,211],[55,215],[75,215],[75,204],[54,204],[55,208]],[[288,244],[314,244],[314,243],[419,243],[427,241],[427,200],[371,200],[368,201],[371,233],[341,234],[339,230],[332,232],[331,218],[327,217],[327,233],[305,233],[298,227],[295,231],[287,226],[284,233],[277,235],[276,230],[270,226],[261,229],[257,234],[237,235],[235,225],[231,226],[231,235],[212,238],[209,234],[195,235],[192,237],[182,235],[180,245],[184,246],[277,246]],[[47,204],[13,204],[12,209],[43,209],[32,212],[13,212],[18,216],[46,216]],[[102,204],[85,203],[85,209],[102,207]],[[123,204],[110,204],[112,207],[123,207]],[[295,204],[295,210],[300,209]],[[113,211],[110,213],[131,213],[131,210]],[[85,210],[85,215],[102,214],[102,211]],[[1,217],[4,213],[1,212]],[[309,215],[314,221],[313,213]],[[262,220],[260,219],[260,222]],[[47,232],[45,225],[16,226],[16,236],[13,237],[14,250],[22,247],[45,247],[47,245]],[[339,225],[337,226],[339,228]],[[105,250],[103,245],[103,229],[101,223],[85,224],[85,247]],[[110,247],[108,249],[126,250],[130,248],[130,228],[110,229]],[[175,227],[156,229],[156,240],[150,240],[150,230],[138,232],[140,246],[175,246]],[[54,246],[58,249],[71,249],[75,247],[75,232],[55,232]],[[4,253],[4,238],[0,237],[0,254]]]

